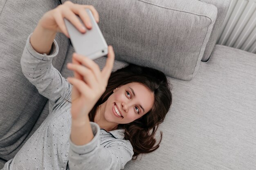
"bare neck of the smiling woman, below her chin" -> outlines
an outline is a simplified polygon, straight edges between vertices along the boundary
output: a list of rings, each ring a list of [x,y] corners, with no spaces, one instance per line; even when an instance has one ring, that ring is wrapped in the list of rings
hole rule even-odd
[[[116,130],[118,124],[114,122],[109,122],[105,119],[104,113],[106,108],[106,102],[101,104],[97,109],[96,115],[94,117],[94,122],[99,125],[100,128],[105,129],[106,131]]]

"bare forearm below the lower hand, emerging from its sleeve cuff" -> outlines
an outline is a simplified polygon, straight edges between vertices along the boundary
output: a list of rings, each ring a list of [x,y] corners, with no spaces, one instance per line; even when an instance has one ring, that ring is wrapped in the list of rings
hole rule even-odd
[[[90,125],[89,116],[86,115],[83,118],[72,119],[71,126],[71,141],[76,145],[88,144],[94,135]]]

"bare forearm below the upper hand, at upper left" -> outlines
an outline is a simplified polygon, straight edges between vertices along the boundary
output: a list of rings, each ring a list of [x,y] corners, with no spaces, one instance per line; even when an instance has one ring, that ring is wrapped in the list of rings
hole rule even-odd
[[[43,29],[40,24],[38,24],[30,38],[31,46],[38,53],[46,53],[49,55],[55,35],[56,31]]]

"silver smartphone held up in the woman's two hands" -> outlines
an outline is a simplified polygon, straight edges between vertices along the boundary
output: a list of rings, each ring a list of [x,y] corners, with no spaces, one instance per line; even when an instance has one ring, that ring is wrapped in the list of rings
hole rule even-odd
[[[108,54],[108,44],[106,43],[106,40],[104,39],[90,9],[85,10],[90,17],[92,29],[87,29],[78,15],[76,15],[77,18],[79,18],[80,22],[85,26],[85,33],[81,33],[69,20],[65,18],[64,22],[76,53],[94,60]]]

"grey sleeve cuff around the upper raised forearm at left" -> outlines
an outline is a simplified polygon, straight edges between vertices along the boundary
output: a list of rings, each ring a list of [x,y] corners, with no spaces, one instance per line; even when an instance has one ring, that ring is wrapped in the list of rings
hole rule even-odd
[[[29,51],[29,53],[31,55],[33,55],[34,57],[40,59],[40,60],[50,60],[50,58],[53,58],[55,57],[57,54],[58,54],[58,44],[56,42],[56,40],[54,39],[53,40],[53,43],[52,43],[52,48],[51,48],[51,51],[50,51],[50,54],[49,55],[46,55],[46,53],[43,53],[43,54],[40,54],[38,53],[31,45],[30,43],[30,38],[31,38],[31,35],[32,33],[29,35],[28,39],[27,39],[27,50]]]

